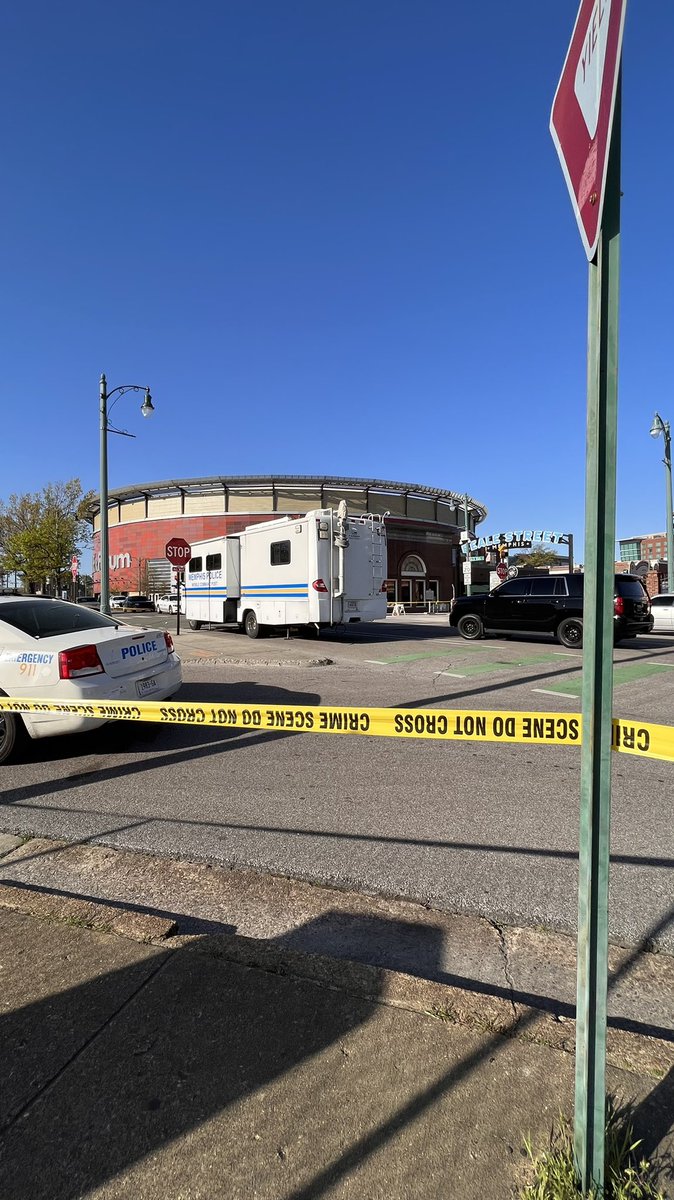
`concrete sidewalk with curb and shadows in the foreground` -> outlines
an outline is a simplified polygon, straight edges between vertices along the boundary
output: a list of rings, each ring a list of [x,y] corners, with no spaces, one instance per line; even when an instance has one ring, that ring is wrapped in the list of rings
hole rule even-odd
[[[0,901],[4,1200],[503,1200],[571,1110],[553,1013],[25,882]],[[609,1088],[672,1152],[674,1043],[612,1038]]]

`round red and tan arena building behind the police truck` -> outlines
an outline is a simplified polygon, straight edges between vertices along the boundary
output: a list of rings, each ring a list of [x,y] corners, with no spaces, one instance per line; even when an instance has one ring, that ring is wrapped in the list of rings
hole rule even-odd
[[[110,593],[158,594],[171,587],[164,557],[173,536],[193,544],[239,533],[257,521],[337,508],[385,515],[389,600],[419,610],[463,590],[459,538],[475,534],[483,504],[457,492],[381,479],[319,475],[215,475],[134,484],[109,493]],[[100,592],[100,508],[92,506],[94,581]]]

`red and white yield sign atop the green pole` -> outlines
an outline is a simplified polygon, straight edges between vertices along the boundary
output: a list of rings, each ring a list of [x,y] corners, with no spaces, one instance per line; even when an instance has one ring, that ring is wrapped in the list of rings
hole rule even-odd
[[[550,133],[590,262],[601,230],[627,0],[580,0]]]

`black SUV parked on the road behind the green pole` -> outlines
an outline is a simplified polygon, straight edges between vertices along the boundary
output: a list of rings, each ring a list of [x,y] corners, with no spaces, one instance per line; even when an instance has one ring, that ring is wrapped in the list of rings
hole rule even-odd
[[[583,644],[583,582],[576,575],[519,576],[482,595],[459,596],[450,625],[474,641],[486,632],[554,634],[562,646]],[[650,598],[638,575],[616,575],[614,641],[648,634]]]

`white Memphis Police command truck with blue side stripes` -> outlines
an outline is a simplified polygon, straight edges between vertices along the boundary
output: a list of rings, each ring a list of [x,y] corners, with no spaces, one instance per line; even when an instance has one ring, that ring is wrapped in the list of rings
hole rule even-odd
[[[315,626],[386,616],[384,517],[349,516],[347,504],[248,526],[192,544],[185,572],[191,629]]]

